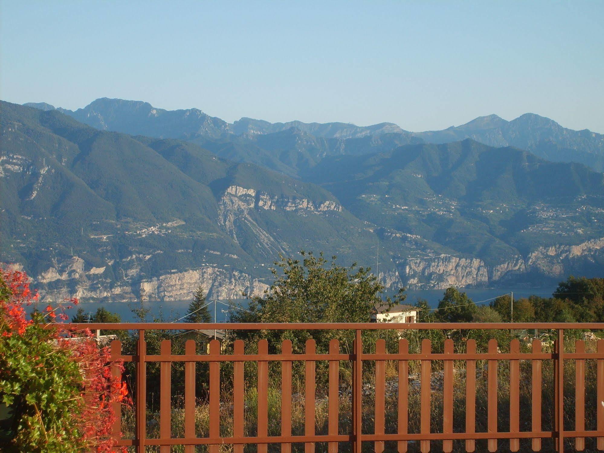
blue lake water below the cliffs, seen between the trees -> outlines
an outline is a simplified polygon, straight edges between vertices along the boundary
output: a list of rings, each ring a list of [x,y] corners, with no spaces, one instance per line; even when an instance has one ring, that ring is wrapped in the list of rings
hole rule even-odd
[[[542,288],[465,288],[460,291],[466,292],[468,297],[474,302],[489,303],[492,298],[496,298],[500,295],[514,293],[514,298],[528,297],[531,294],[535,294],[541,297],[551,297],[551,294],[556,289],[556,286],[546,286]],[[439,300],[443,297],[444,289],[426,289],[418,291],[405,291],[407,298],[405,304],[413,305],[419,299],[425,299],[428,301],[429,306],[436,307],[439,304]],[[236,300],[233,301],[245,309],[247,306],[247,300]],[[152,321],[153,316],[156,318],[162,318],[164,321],[175,321],[181,316],[187,313],[188,305],[190,301],[177,300],[177,301],[163,301],[163,302],[83,302],[77,307],[66,310],[66,313],[71,318],[77,311],[78,307],[82,307],[85,313],[94,313],[98,307],[105,307],[111,312],[118,313],[121,316],[121,320],[124,322],[138,321],[138,318],[132,313],[133,308],[143,306],[145,309],[149,309],[149,315],[147,315],[147,321]],[[228,306],[230,302],[228,300],[220,300],[216,303],[216,320],[219,323],[229,320],[230,312],[236,310]],[[33,307],[30,307],[30,310]],[[214,317],[214,303],[211,302],[208,306],[208,310],[212,317]]]

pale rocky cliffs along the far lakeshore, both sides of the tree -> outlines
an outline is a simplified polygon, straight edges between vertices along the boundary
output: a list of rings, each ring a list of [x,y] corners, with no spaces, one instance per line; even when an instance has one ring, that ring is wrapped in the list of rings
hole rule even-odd
[[[239,196],[246,195],[250,194],[239,192]],[[42,290],[42,299],[49,301],[69,297],[100,301],[188,300],[199,284],[210,297],[237,299],[243,293],[262,295],[269,288],[268,281],[213,265],[144,278],[140,262],[146,259],[150,257],[133,255],[123,260],[120,263],[122,278],[115,279],[108,276],[115,263],[87,267],[82,258],[72,257],[62,265],[40,272],[34,283]],[[380,278],[390,289],[401,285],[408,289],[445,289],[509,284],[527,272],[550,279],[565,278],[573,273],[584,275],[586,269],[598,269],[602,264],[604,238],[579,245],[541,247],[526,257],[515,257],[493,266],[478,258],[446,254],[407,259],[397,263],[398,271],[381,272]]]

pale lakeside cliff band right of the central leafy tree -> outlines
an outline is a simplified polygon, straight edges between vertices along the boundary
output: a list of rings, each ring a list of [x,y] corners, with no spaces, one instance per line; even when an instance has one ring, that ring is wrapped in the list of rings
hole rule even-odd
[[[494,266],[487,266],[477,258],[445,254],[402,260],[398,265],[407,288],[445,289],[452,285],[503,284],[527,272],[543,278],[565,278],[573,273],[585,275],[588,269],[593,272],[599,268],[594,264],[603,262],[604,238],[601,238],[579,245],[539,247],[525,257],[514,257]]]

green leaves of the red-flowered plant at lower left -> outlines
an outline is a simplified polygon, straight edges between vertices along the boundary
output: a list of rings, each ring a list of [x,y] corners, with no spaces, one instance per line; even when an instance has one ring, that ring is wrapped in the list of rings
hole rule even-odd
[[[80,389],[83,378],[68,349],[56,347],[39,319],[0,341],[0,395],[14,408],[14,452],[65,452],[82,448]]]

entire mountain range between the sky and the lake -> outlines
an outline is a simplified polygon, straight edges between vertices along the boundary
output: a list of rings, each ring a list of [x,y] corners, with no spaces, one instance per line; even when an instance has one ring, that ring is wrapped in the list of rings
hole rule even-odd
[[[49,298],[236,298],[278,254],[373,267],[378,244],[389,288],[602,271],[604,136],[538,115],[416,133],[102,98],[2,101],[0,127],[0,261]]]

